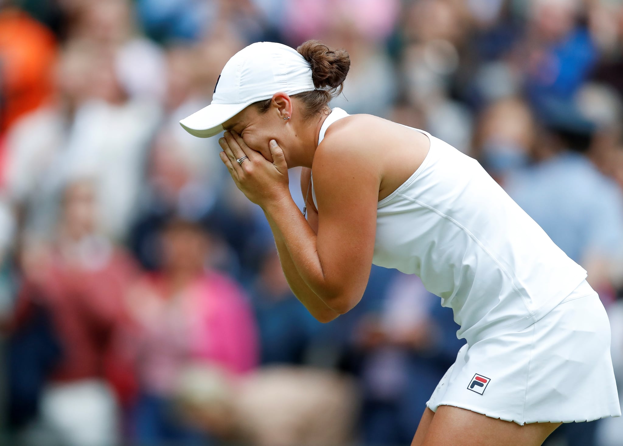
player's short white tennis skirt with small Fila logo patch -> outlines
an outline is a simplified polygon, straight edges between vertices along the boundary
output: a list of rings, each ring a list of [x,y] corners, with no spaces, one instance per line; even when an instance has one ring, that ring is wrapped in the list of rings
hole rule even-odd
[[[610,323],[584,281],[525,330],[460,349],[427,407],[456,406],[520,425],[621,416]]]

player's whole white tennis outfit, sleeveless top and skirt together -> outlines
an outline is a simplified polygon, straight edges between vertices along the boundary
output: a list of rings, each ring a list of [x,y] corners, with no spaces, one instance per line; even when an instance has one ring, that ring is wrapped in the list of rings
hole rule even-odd
[[[319,144],[345,116],[333,109]],[[417,131],[429,153],[378,202],[373,263],[419,276],[467,341],[427,406],[518,424],[620,416],[610,325],[586,271],[478,161]]]

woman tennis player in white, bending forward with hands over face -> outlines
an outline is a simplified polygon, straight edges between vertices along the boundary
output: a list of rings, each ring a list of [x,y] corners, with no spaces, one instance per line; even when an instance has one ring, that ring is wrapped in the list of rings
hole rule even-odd
[[[226,130],[221,159],[264,209],[297,298],[331,321],[357,305],[374,263],[418,275],[454,310],[467,344],[413,445],[536,446],[562,422],[620,416],[610,326],[586,271],[475,159],[426,131],[330,110],[349,67],[315,40],[252,44],[211,105],[180,121],[201,138]],[[288,189],[295,166],[303,212]]]

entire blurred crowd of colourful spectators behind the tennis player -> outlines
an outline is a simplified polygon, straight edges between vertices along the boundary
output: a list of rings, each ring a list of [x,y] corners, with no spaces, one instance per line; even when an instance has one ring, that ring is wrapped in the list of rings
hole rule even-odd
[[[178,124],[237,50],[310,38],[351,56],[331,105],[477,158],[586,268],[623,389],[621,0],[0,0],[0,444],[410,444],[452,311],[373,267],[315,321],[216,138]]]

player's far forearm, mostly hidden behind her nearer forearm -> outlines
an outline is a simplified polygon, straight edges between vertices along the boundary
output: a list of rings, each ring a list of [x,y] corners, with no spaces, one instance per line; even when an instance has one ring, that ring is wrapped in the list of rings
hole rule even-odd
[[[331,308],[329,308],[326,303],[324,303],[318,297],[318,295],[316,295],[316,293],[314,293],[312,289],[308,287],[307,283],[305,283],[305,280],[303,280],[300,273],[298,273],[297,267],[292,260],[292,256],[290,255],[290,252],[288,252],[288,247],[285,244],[285,240],[283,239],[283,234],[280,232],[274,219],[272,219],[272,217],[270,217],[267,212],[264,212],[264,214],[270,224],[270,229],[272,229],[273,236],[275,237],[275,245],[277,245],[277,252],[279,255],[279,260],[281,262],[281,267],[283,269],[283,273],[285,274],[288,285],[290,285],[290,289],[297,297],[297,299],[317,320],[321,322],[329,322],[331,320],[334,320],[337,316],[340,315],[340,313],[331,310]]]

